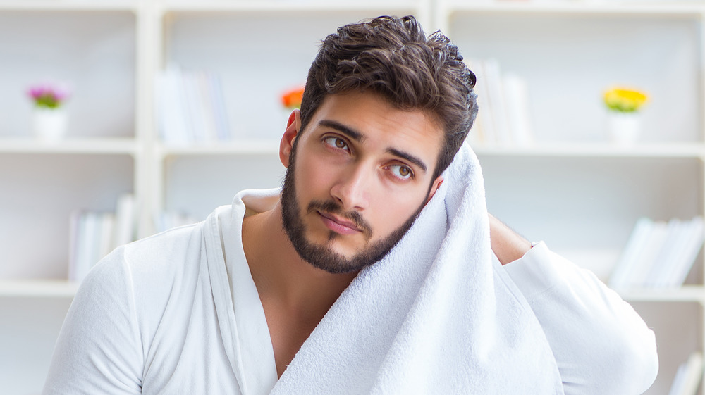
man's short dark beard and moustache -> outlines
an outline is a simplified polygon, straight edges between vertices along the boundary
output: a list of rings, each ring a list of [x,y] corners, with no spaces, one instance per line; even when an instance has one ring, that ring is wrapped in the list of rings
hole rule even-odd
[[[404,237],[404,234],[410,229],[416,218],[424,208],[424,204],[417,208],[416,212],[406,220],[400,227],[391,232],[384,239],[369,243],[372,238],[372,227],[362,218],[362,215],[357,211],[344,211],[340,203],[334,200],[314,200],[311,201],[307,208],[307,213],[331,213],[338,217],[350,220],[355,224],[367,240],[367,246],[360,251],[357,251],[353,256],[343,256],[343,254],[333,251],[330,244],[340,234],[331,231],[328,240],[325,244],[314,244],[306,237],[306,225],[304,224],[302,213],[299,206],[299,201],[296,196],[295,189],[295,157],[296,146],[298,140],[295,140],[291,150],[289,166],[284,175],[284,185],[281,192],[281,217],[284,226],[284,231],[288,236],[294,249],[299,256],[313,265],[315,268],[325,270],[326,272],[338,274],[356,272],[362,270],[373,263],[376,263]]]

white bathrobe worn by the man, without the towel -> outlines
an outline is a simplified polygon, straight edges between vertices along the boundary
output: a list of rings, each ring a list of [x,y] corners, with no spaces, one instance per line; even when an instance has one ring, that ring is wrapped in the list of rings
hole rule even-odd
[[[260,203],[252,209],[277,197],[250,199]],[[66,317],[44,394],[269,394],[276,366],[242,249],[244,211],[235,201],[206,222],[128,244],[99,263]],[[222,242],[206,242],[207,228]],[[211,258],[223,251],[226,263]],[[503,268],[544,328],[565,394],[649,387],[654,335],[594,275],[543,243]]]

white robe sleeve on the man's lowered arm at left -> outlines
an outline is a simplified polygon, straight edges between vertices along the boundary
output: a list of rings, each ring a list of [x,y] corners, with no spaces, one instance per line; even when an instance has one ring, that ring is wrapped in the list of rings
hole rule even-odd
[[[124,249],[100,261],[63,322],[44,395],[140,394],[144,365]]]

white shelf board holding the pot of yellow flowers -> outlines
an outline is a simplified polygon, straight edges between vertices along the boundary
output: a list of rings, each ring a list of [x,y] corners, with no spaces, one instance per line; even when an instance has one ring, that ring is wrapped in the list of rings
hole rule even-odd
[[[613,144],[535,144],[532,146],[478,145],[473,150],[477,155],[491,156],[582,156],[615,158],[702,158],[705,144],[663,143],[617,146]]]

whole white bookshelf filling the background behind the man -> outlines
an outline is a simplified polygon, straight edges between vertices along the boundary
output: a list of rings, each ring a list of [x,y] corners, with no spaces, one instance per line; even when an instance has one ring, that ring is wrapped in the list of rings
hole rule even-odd
[[[536,142],[474,148],[490,211],[529,239],[606,280],[639,216],[705,213],[705,6],[0,0],[0,87],[14,92],[0,96],[4,393],[41,389],[77,288],[64,280],[71,211],[113,210],[132,192],[145,237],[162,211],[204,218],[241,189],[280,185],[288,111],[278,98],[305,80],[319,39],[343,23],[409,13],[427,32],[441,28],[466,58],[497,58],[527,80]],[[170,65],[221,77],[232,141],[161,141],[155,82]],[[23,97],[47,78],[70,80],[75,92],[68,137],[53,144],[30,138]],[[635,146],[607,142],[600,93],[615,83],[653,98]],[[704,262],[699,257],[680,289],[620,291],[657,333],[661,372],[646,394],[667,393],[678,365],[703,349]],[[16,359],[23,349],[32,352]]]

